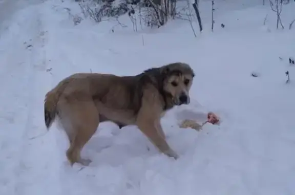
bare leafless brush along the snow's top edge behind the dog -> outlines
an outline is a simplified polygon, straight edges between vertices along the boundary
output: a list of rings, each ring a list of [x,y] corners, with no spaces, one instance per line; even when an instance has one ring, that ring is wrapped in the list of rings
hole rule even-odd
[[[103,17],[119,17],[128,13],[132,23],[136,17],[144,21],[146,26],[163,26],[170,17],[174,18],[175,0],[88,0],[79,1],[85,17],[90,16],[97,23]],[[161,4],[165,6],[161,6]],[[139,10],[139,14],[135,10]]]

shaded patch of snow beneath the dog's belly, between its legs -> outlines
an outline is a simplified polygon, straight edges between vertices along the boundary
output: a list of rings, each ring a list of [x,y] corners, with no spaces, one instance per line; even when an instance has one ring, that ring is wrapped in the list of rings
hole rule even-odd
[[[98,132],[83,148],[82,157],[92,160],[89,166],[119,166],[132,158],[157,153],[138,129],[126,126],[122,129],[113,128],[112,131],[116,134],[103,136]]]

